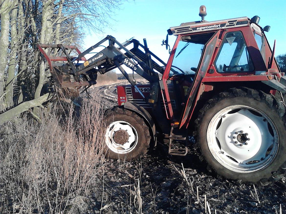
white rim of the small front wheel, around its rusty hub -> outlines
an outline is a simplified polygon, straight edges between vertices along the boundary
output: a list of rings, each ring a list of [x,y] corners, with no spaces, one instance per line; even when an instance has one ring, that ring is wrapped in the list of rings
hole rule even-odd
[[[124,130],[128,133],[128,140],[127,142],[123,142],[123,145],[116,143],[114,140],[114,135],[119,130]],[[130,123],[123,120],[114,121],[106,128],[105,142],[112,152],[126,154],[136,147],[138,143],[138,134],[136,129]]]

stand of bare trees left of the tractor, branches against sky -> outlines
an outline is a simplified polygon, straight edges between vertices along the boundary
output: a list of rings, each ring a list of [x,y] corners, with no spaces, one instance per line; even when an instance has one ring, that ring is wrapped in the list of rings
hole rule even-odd
[[[38,101],[50,99],[43,100],[43,94],[49,91],[51,78],[35,44],[80,45],[86,29],[100,32],[109,26],[108,20],[121,1],[0,0],[0,103],[3,105],[5,98],[6,104],[1,108],[13,110],[14,115],[17,105],[35,100],[29,104],[37,105],[28,105],[35,114]],[[26,109],[21,106],[16,108],[18,114]]]

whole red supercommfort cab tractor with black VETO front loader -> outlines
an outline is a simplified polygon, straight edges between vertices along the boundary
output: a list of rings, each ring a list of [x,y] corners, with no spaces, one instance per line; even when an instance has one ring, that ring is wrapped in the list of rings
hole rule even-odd
[[[49,45],[38,48],[62,88],[88,87],[98,72],[116,67],[130,82],[117,87],[118,106],[106,111],[110,158],[136,159],[166,136],[169,154],[185,156],[194,136],[209,169],[242,181],[271,180],[285,169],[285,103],[275,94],[286,92],[286,77],[274,58],[275,44],[271,50],[265,36],[270,26],[260,27],[258,16],[208,22],[204,6],[199,15],[201,21],[168,29],[177,39],[167,63],[145,39],[144,45],[135,39],[120,44],[107,36],[76,57],[70,56],[72,46],[50,46],[65,57],[46,54]],[[106,41],[102,51],[83,58]],[[150,84],[136,85],[123,65]]]

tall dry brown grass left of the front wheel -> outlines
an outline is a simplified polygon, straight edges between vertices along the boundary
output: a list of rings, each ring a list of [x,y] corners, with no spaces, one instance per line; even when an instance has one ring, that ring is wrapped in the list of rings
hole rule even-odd
[[[103,174],[103,112],[96,100],[0,127],[0,213],[79,213]],[[65,121],[60,124],[59,121]]]

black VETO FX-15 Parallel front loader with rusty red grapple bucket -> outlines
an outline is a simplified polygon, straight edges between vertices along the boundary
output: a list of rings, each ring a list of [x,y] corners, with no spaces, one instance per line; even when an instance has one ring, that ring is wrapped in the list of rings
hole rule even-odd
[[[102,44],[106,41],[109,42],[107,47],[86,60],[84,57],[86,54],[89,54],[97,47],[103,46]],[[132,43],[134,47],[131,50],[126,48],[126,46]],[[115,47],[115,45],[118,47]],[[138,47],[143,48],[145,53],[138,49]],[[144,97],[142,93],[140,94],[148,104],[151,106],[156,105],[159,82],[157,72],[163,73],[166,63],[149,51],[146,40],[144,40],[144,45],[140,44],[136,39],[131,39],[121,44],[114,37],[107,36],[82,53],[74,46],[61,44],[37,44],[37,48],[41,52],[42,60],[47,60],[49,63],[50,72],[56,84],[61,88],[96,84],[98,72],[104,74],[114,68],[118,68],[130,84],[137,88],[134,78],[130,77],[122,67],[122,64],[124,64],[133,72],[136,72],[150,82],[150,96]],[[123,51],[125,53],[123,53]],[[72,53],[76,53],[78,56],[72,57]],[[60,55],[60,57],[57,55]],[[163,66],[154,62],[151,56],[158,60]],[[82,60],[84,60],[84,63],[80,63]],[[61,62],[55,63],[55,61]]]

